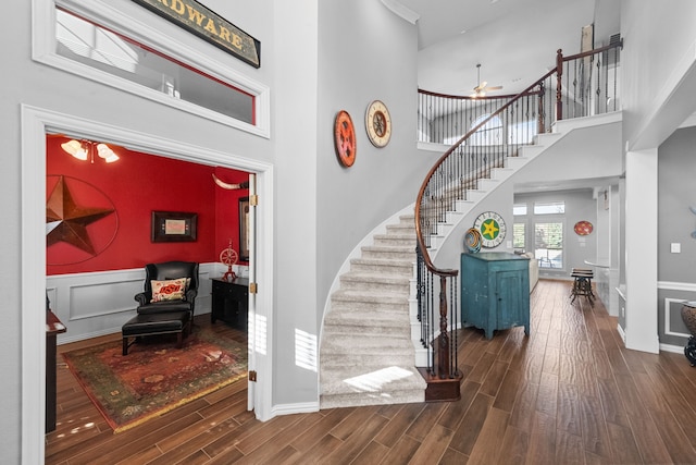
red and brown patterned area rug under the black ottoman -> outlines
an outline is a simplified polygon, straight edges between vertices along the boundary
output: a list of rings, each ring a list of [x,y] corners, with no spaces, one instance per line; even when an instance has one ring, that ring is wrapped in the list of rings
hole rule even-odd
[[[122,355],[113,341],[63,354],[87,395],[114,432],[231,384],[247,374],[247,347],[195,328],[175,347],[176,338],[145,338]]]

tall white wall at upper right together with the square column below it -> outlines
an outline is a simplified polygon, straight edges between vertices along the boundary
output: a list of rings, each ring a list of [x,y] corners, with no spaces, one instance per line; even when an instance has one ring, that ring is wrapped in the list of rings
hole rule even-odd
[[[626,346],[657,352],[657,147],[696,110],[696,3],[621,2]],[[655,170],[652,170],[655,168]],[[623,285],[622,285],[623,287]],[[623,319],[621,319],[623,320]]]

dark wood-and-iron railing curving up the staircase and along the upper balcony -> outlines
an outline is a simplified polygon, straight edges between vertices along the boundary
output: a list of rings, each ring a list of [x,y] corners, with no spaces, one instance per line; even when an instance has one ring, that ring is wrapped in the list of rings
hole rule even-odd
[[[572,57],[558,50],[556,68],[513,96],[473,98],[419,90],[420,142],[451,144],[426,174],[415,201],[419,318],[428,350],[425,371],[433,379],[456,379],[460,374],[455,331],[459,271],[433,262],[432,240],[445,233],[443,224],[458,201],[468,200],[478,182],[517,157],[521,146],[550,132],[564,111],[568,119],[620,109],[621,47],[618,39]],[[470,129],[461,134],[462,127]]]

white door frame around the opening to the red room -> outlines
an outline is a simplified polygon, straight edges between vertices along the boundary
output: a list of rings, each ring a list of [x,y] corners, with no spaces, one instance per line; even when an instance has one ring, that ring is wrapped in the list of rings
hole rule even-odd
[[[46,306],[39,290],[46,287],[46,134],[73,133],[108,140],[133,150],[158,154],[203,164],[221,166],[256,173],[263,205],[257,210],[256,264],[252,265],[264,292],[256,295],[254,325],[249,343],[254,348],[249,369],[259,381],[249,389],[249,406],[257,418],[272,417],[272,328],[273,328],[273,166],[271,163],[189,145],[179,140],[142,134],[76,115],[32,106],[22,106],[22,224],[21,224],[21,311],[22,311],[22,463],[45,462],[46,406]],[[259,215],[260,213],[260,215]],[[262,245],[262,246],[259,246]],[[258,322],[262,322],[263,332]],[[256,328],[253,331],[252,329]],[[70,328],[69,328],[70,331]],[[251,386],[251,384],[250,384]]]

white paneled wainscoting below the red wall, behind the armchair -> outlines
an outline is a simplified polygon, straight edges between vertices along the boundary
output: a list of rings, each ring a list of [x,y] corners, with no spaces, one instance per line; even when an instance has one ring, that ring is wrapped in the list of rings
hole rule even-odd
[[[226,270],[222,264],[200,264],[196,315],[210,313],[210,278]],[[244,274],[240,269],[235,272]],[[123,323],[135,315],[134,296],[142,291],[144,280],[144,268],[47,277],[51,309],[67,328],[58,335],[58,343],[121,332]]]

